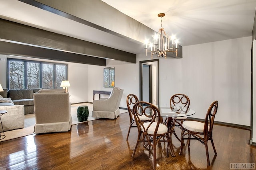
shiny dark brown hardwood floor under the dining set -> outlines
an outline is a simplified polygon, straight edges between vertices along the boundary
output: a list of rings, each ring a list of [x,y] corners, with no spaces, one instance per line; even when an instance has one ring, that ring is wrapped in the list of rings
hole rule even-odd
[[[149,151],[139,144],[135,158],[131,158],[136,143],[137,128],[132,128],[129,140],[128,113],[116,120],[98,119],[72,126],[66,133],[29,135],[0,142],[0,170],[150,170]],[[177,133],[180,133],[177,130]],[[172,137],[176,157],[166,157],[166,145],[158,145],[157,169],[227,170],[230,163],[255,163],[256,147],[250,146],[250,131],[214,125],[213,139],[218,155],[214,156],[209,141],[211,166],[207,166],[205,147],[191,141],[178,155],[180,143]]]

